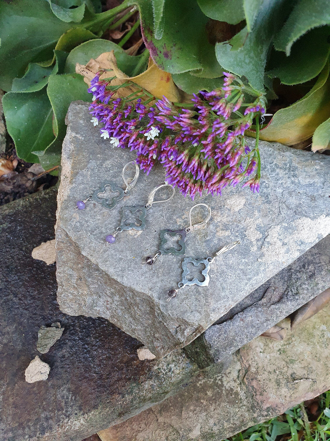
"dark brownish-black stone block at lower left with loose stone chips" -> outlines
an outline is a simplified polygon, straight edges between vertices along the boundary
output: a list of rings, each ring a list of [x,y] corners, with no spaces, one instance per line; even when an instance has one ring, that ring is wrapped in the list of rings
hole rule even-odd
[[[105,318],[63,314],[55,264],[31,256],[54,239],[56,189],[0,207],[0,440],[81,441],[158,403],[196,373],[183,350],[140,361],[142,344]],[[40,324],[60,322],[61,338],[37,351]],[[47,381],[24,372],[39,355]]]

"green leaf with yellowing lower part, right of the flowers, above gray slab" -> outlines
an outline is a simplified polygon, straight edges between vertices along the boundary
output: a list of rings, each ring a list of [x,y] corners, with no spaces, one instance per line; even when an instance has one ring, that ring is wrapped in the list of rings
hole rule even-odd
[[[291,146],[311,137],[329,115],[330,78],[327,61],[313,88],[301,100],[277,111],[270,123],[260,130],[260,139]]]

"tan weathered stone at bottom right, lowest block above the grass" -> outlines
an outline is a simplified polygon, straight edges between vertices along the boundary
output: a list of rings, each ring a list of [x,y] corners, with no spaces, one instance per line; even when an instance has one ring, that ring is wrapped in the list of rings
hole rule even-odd
[[[221,441],[330,388],[330,305],[283,341],[258,337],[102,441]]]

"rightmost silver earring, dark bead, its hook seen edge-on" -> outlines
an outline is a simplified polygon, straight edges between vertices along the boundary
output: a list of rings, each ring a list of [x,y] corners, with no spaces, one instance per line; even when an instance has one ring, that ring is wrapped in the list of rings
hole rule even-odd
[[[182,280],[181,280],[181,282],[178,283],[178,287],[179,288],[171,289],[168,292],[169,298],[167,299],[167,301],[169,302],[171,299],[173,299],[173,297],[176,297],[178,295],[178,292],[180,291],[180,289],[184,288],[187,285],[188,286],[192,286],[192,285],[209,286],[209,281],[210,281],[210,277],[209,277],[210,263],[212,263],[213,260],[217,256],[220,256],[220,254],[224,254],[226,251],[232,250],[239,243],[240,243],[239,240],[237,240],[236,242],[229,243],[225,247],[221,248],[221,250],[218,251],[216,254],[214,254],[213,257],[207,257],[206,259],[196,260],[196,259],[193,259],[191,257],[184,258],[183,262],[181,264],[182,265],[182,269],[183,269],[183,273],[182,273]],[[198,265],[201,265],[201,264],[205,265],[205,269],[202,270],[202,276],[204,277],[204,280],[202,282],[199,281],[197,278],[194,278],[192,280],[187,280],[187,276],[190,273],[190,271],[188,269],[188,263],[192,263],[194,266],[198,266]]]

